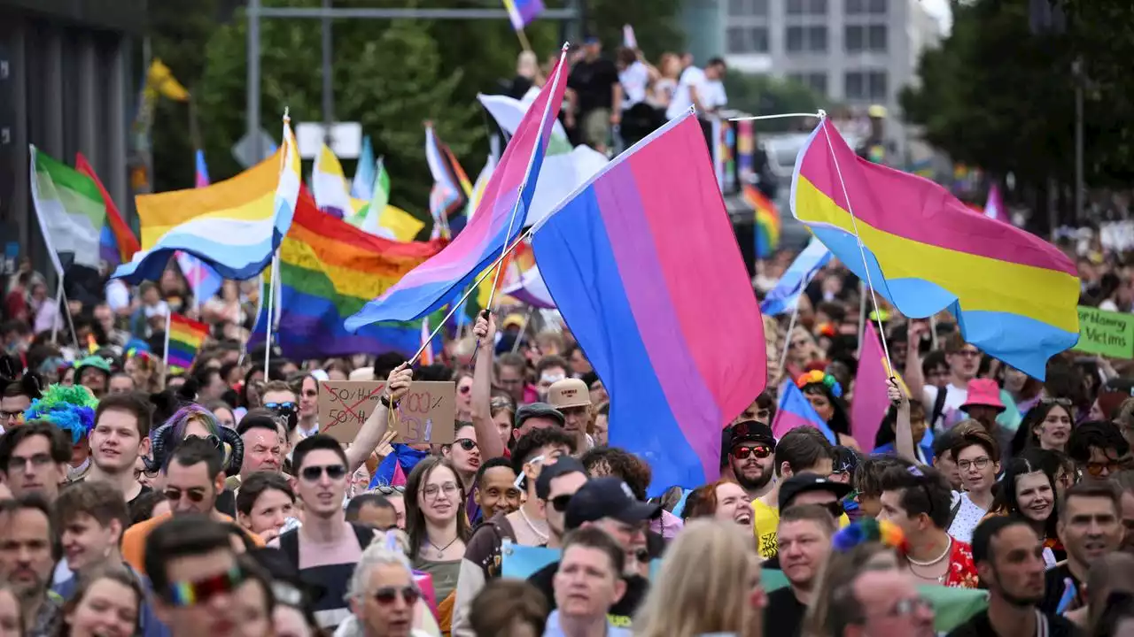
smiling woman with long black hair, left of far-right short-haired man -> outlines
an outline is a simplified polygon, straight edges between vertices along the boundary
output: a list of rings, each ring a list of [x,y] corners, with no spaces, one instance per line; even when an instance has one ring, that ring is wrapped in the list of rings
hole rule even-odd
[[[1008,461],[1000,487],[992,500],[990,516],[1018,516],[1027,520],[1043,542],[1043,561],[1048,568],[1067,558],[1056,527],[1057,482],[1055,469],[1059,459],[1043,449],[1026,449]]]

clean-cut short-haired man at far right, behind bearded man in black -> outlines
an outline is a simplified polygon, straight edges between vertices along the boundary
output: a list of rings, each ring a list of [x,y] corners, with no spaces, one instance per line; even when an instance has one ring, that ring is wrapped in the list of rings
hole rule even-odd
[[[1067,550],[1067,562],[1043,575],[1044,594],[1040,610],[1056,613],[1075,610],[1086,604],[1083,581],[1091,566],[1099,558],[1118,550],[1123,538],[1119,516],[1120,494],[1111,482],[1081,482],[1064,494],[1059,507],[1059,540]],[[1074,595],[1065,608],[1059,608],[1068,589]]]

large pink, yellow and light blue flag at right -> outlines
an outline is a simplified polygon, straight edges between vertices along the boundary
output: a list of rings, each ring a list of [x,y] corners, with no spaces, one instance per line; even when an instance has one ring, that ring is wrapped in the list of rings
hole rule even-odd
[[[1063,253],[932,181],[860,159],[827,119],[796,159],[792,212],[899,312],[948,308],[967,342],[1030,376],[1078,341],[1080,282]]]

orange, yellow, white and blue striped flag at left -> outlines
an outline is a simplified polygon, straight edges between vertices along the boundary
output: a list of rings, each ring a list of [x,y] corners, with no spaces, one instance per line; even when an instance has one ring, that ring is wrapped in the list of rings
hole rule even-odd
[[[138,196],[143,252],[113,277],[155,280],[172,253],[185,250],[226,279],[251,279],[287,235],[299,184],[299,153],[285,120],[284,143],[259,165],[205,188]]]

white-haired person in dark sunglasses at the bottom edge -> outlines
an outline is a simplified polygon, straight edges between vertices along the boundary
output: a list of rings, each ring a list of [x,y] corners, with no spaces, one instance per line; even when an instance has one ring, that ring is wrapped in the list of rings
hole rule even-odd
[[[348,584],[352,617],[336,637],[426,637],[414,627],[422,612],[422,592],[403,552],[405,536],[379,533],[363,552]],[[430,619],[430,618],[423,618]]]

